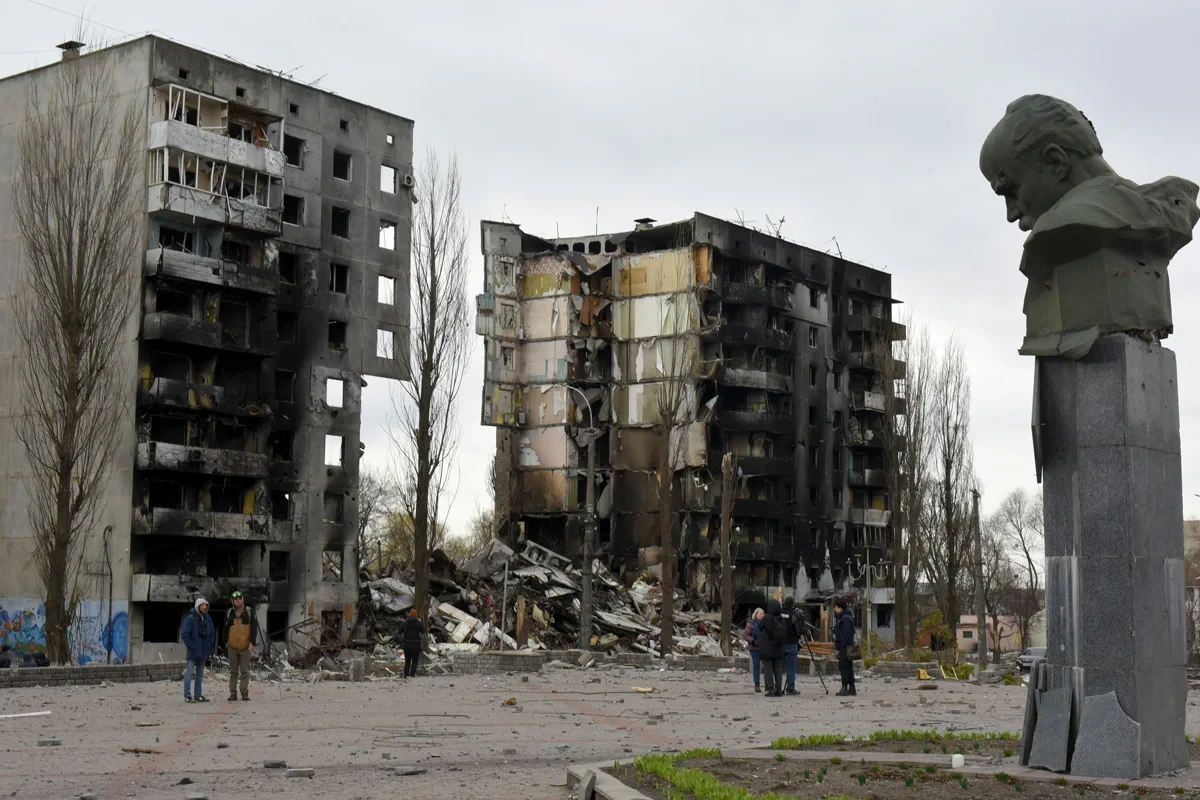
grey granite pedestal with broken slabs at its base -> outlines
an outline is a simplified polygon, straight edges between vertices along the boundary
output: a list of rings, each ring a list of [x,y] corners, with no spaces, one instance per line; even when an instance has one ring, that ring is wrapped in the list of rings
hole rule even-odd
[[[1046,660],[1021,763],[1138,778],[1186,768],[1183,492],[1175,354],[1133,336],[1038,359]]]

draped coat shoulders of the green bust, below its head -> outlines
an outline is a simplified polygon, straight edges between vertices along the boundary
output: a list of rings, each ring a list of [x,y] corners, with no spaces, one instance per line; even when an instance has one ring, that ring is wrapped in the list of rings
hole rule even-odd
[[[1151,248],[1170,258],[1200,219],[1194,182],[1168,176],[1139,185],[1117,175],[1084,181],[1038,218],[1026,251]]]

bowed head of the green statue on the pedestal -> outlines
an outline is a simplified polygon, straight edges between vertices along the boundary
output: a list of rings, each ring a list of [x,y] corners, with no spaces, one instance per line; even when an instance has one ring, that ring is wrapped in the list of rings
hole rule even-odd
[[[1009,103],[988,134],[979,169],[1008,205],[1008,221],[1031,230],[1063,194],[1090,178],[1080,166],[1100,160],[1096,128],[1072,106],[1046,95]]]

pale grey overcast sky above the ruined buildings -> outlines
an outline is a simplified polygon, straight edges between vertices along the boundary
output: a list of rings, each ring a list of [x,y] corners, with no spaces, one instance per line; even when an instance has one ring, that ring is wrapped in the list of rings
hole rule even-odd
[[[79,5],[52,0],[78,14]],[[853,10],[860,10],[858,12]],[[766,224],[894,275],[904,308],[955,332],[973,381],[984,510],[1034,486],[1032,359],[1022,234],[977,168],[1020,95],[1060,96],[1096,125],[1132,180],[1200,179],[1195,34],[1200,4],[383,2],[101,0],[94,24],[156,32],[416,121],[416,160],[456,151],[473,227],[469,290],[482,290],[480,219],[553,236],[625,230],[636,217],[704,211]],[[58,58],[72,17],[0,0],[0,74]],[[31,52],[32,50],[32,52]],[[1200,512],[1200,245],[1171,264],[1180,356],[1184,512]],[[487,503],[494,431],[479,425],[482,344],[460,414],[461,530]],[[385,459],[383,383],[362,439]]]

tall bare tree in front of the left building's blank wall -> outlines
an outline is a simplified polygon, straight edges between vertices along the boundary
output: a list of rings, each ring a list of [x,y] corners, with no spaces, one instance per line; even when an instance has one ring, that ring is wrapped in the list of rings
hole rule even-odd
[[[32,80],[13,181],[25,255],[13,300],[25,414],[14,427],[32,474],[32,563],[55,663],[71,660],[80,564],[127,428],[120,359],[139,287],[144,137],[137,104],[120,106],[106,53],[59,65],[49,86]]]

